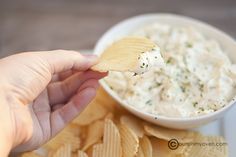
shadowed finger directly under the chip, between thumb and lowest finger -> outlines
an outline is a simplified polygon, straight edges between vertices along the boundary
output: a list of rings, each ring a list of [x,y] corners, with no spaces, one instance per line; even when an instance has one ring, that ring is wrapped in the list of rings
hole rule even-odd
[[[106,73],[86,71],[76,73],[62,82],[52,83],[48,86],[49,102],[51,105],[65,103],[86,80],[99,80],[104,76]]]

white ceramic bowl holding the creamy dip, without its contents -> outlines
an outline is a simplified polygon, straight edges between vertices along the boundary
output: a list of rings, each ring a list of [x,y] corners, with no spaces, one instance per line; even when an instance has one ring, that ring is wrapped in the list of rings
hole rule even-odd
[[[117,38],[127,36],[133,30],[153,22],[167,23],[174,26],[195,27],[206,37],[217,40],[224,51],[227,53],[227,55],[230,57],[231,61],[233,63],[236,63],[236,42],[234,41],[234,39],[208,24],[189,17],[173,14],[145,14],[124,20],[113,26],[100,38],[100,40],[96,44],[94,53],[100,55],[106,48],[106,46],[111,44]],[[233,106],[233,104],[235,104],[235,101],[231,101],[224,108],[214,113],[209,113],[203,116],[189,118],[170,118],[166,116],[150,114],[131,105],[128,105],[121,98],[119,98],[119,96],[114,91],[112,91],[103,80],[101,80],[101,85],[115,100],[117,100],[123,107],[125,107],[136,116],[161,126],[176,129],[194,128],[206,124],[210,121],[216,120],[222,117],[226,113],[226,111],[229,110],[230,107]]]

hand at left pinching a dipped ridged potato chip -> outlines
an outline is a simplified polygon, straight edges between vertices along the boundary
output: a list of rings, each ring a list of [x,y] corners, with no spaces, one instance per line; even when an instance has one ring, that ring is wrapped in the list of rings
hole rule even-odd
[[[32,150],[62,130],[93,99],[98,80],[93,55],[74,51],[30,52],[0,60],[1,146]],[[1,154],[1,153],[0,153]]]

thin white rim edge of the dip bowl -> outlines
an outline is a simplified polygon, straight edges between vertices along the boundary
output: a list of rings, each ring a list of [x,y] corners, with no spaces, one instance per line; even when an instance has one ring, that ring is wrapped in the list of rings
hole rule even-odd
[[[113,25],[110,29],[108,29],[103,35],[102,37],[97,41],[95,48],[94,48],[94,53],[96,55],[101,54],[98,50],[99,50],[99,46],[101,46],[101,43],[103,42],[103,40],[105,38],[108,38],[110,35],[110,32],[113,32],[114,30],[117,30],[118,27],[120,27],[121,25],[127,25],[127,23],[130,23],[134,20],[143,20],[145,18],[175,18],[177,20],[185,20],[188,21],[190,23],[193,24],[197,24],[200,27],[205,27],[207,29],[211,29],[212,31],[220,34],[221,36],[223,36],[223,38],[226,38],[227,40],[230,40],[235,46],[236,46],[236,41],[227,33],[223,32],[222,30],[207,24],[205,22],[202,22],[200,20],[194,19],[192,17],[187,17],[187,16],[183,16],[183,15],[177,15],[177,14],[170,14],[170,13],[149,13],[149,14],[141,14],[141,15],[137,15],[137,16],[133,16],[130,18],[127,18],[125,20],[122,20],[120,22],[118,22],[117,24]],[[164,115],[155,115],[153,113],[149,113],[147,111],[143,111],[139,108],[134,107],[133,105],[129,105],[127,104],[127,102],[125,102],[124,100],[122,100],[118,94],[113,91],[112,89],[110,89],[110,87],[106,84],[106,82],[104,80],[100,80],[99,81],[101,86],[105,89],[105,91],[111,96],[113,97],[113,99],[115,99],[116,101],[119,102],[119,104],[123,107],[125,107],[126,109],[128,109],[130,112],[135,111],[136,114],[140,114],[142,116],[145,117],[149,117],[155,120],[162,120],[162,121],[171,121],[171,122],[190,122],[190,121],[199,121],[199,120],[203,120],[203,119],[208,119],[210,117],[216,117],[217,115],[219,115],[220,113],[225,112],[226,110],[228,110],[229,108],[231,108],[234,104],[236,104],[236,96],[224,107],[220,108],[219,110],[215,111],[215,112],[211,112],[211,113],[207,113],[204,115],[198,115],[198,116],[193,116],[193,117],[168,117],[168,116],[164,116]]]

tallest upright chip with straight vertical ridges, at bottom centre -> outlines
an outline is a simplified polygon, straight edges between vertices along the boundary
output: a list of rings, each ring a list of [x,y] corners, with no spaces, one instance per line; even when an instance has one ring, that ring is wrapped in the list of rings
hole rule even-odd
[[[103,143],[93,146],[93,157],[121,157],[121,138],[116,125],[109,119],[105,120]]]

